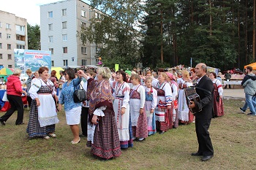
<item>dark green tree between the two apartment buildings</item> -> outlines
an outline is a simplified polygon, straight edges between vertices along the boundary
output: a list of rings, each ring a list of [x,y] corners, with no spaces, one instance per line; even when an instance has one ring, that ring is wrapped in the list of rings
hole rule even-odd
[[[29,50],[40,50],[40,26],[31,26],[29,23],[28,28],[28,48]]]

